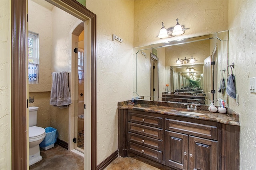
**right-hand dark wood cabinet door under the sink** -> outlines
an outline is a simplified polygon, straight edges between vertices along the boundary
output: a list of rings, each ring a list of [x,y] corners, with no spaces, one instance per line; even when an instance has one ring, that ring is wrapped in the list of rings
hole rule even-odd
[[[217,170],[217,141],[189,136],[188,151],[188,170]]]

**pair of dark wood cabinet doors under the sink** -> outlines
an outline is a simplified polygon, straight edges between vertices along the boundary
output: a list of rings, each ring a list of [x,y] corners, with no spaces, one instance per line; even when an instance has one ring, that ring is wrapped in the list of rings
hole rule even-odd
[[[172,131],[165,132],[164,164],[182,170],[216,170],[218,141]]]

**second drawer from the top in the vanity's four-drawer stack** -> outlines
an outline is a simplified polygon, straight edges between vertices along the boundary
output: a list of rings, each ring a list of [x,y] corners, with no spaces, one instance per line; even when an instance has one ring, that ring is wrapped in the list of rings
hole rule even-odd
[[[148,137],[153,137],[155,139],[162,140],[163,137],[163,129],[140,125],[138,123],[128,122],[128,131]]]

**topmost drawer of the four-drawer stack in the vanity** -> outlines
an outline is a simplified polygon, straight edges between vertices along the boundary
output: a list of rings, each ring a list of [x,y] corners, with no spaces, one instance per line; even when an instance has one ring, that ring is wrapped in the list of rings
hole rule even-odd
[[[134,112],[136,112],[136,111],[134,111]],[[133,113],[132,111],[128,112],[128,121],[134,122],[134,123],[140,123],[142,125],[159,127],[159,128],[162,128],[162,124],[163,124],[162,117]]]

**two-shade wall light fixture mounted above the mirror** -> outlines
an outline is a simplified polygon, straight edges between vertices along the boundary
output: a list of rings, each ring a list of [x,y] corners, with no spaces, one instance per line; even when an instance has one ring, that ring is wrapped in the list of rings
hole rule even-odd
[[[189,29],[189,28],[184,28],[184,26],[180,25],[178,22],[178,18],[176,19],[176,21],[177,21],[176,25],[168,29],[164,27],[164,22],[162,22],[162,28],[160,29],[159,35],[157,37],[158,38],[174,37],[176,35],[184,34],[185,30]]]

